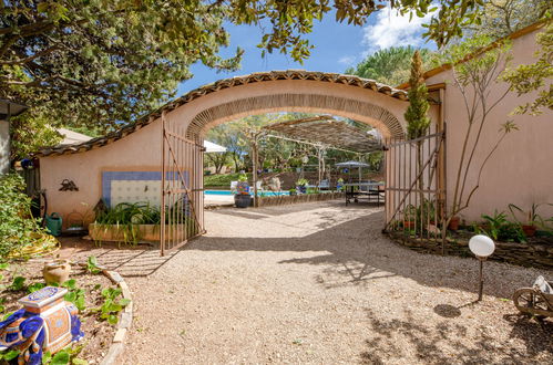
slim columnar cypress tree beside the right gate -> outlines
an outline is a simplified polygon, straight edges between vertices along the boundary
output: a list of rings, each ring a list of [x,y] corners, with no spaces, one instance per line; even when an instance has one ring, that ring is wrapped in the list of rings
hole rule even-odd
[[[404,117],[407,121],[407,135],[409,139],[416,139],[417,176],[422,174],[422,143],[421,137],[427,135],[430,118],[427,116],[430,104],[428,102],[428,90],[424,83],[422,59],[419,51],[414,51],[411,61],[411,77],[409,79],[409,106]],[[424,202],[423,180],[418,179],[419,204]]]

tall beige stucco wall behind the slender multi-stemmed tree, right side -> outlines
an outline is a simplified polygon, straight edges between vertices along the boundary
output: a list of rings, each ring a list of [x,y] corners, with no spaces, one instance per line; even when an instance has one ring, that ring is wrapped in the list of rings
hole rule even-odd
[[[513,40],[513,64],[534,62],[535,34],[533,32]],[[447,122],[448,199],[451,204],[468,123],[462,96],[452,83],[452,72],[447,71],[427,80],[428,84],[442,82],[447,83],[443,107]],[[494,85],[490,100],[496,100],[505,88],[504,83]],[[516,105],[531,101],[532,96],[518,97],[510,93],[489,115],[481,147],[474,156],[474,168],[469,174],[469,188],[474,186],[479,167],[500,136],[498,131],[501,124],[513,121],[520,131],[509,134],[487,164],[481,185],[470,207],[461,215],[467,220],[480,219],[482,213],[493,213],[494,209],[508,211],[509,204],[529,209],[534,202],[553,202],[553,113],[545,111],[541,116],[510,115]],[[542,207],[541,213],[553,216],[553,207]]]

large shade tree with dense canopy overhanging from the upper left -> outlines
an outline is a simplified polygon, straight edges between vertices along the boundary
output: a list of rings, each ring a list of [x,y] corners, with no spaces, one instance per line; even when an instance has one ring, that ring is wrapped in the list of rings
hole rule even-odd
[[[104,132],[157,107],[191,77],[190,66],[239,65],[228,59],[225,22],[259,25],[259,48],[303,61],[314,22],[365,24],[390,6],[424,15],[443,4],[429,24],[439,44],[473,21],[481,0],[34,0],[0,1],[0,97],[31,106],[22,118],[48,125],[99,127]],[[16,138],[17,139],[17,138]],[[24,142],[23,142],[24,143]]]

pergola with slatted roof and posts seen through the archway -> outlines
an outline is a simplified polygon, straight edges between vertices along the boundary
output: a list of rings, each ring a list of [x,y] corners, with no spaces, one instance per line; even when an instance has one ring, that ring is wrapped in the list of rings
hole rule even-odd
[[[257,139],[262,135],[315,146],[318,157],[318,186],[320,186],[325,173],[324,152],[326,149],[357,154],[368,154],[382,149],[380,139],[373,134],[351,126],[345,121],[337,121],[330,115],[270,124],[252,135],[254,197],[257,197]]]

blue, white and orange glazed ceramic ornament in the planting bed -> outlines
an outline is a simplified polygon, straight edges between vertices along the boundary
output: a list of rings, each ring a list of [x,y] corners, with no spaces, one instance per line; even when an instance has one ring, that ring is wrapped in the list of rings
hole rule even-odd
[[[19,350],[18,364],[39,365],[42,351],[54,354],[81,340],[78,309],[63,300],[64,288],[45,286],[23,296],[23,309],[0,322],[0,351]]]

